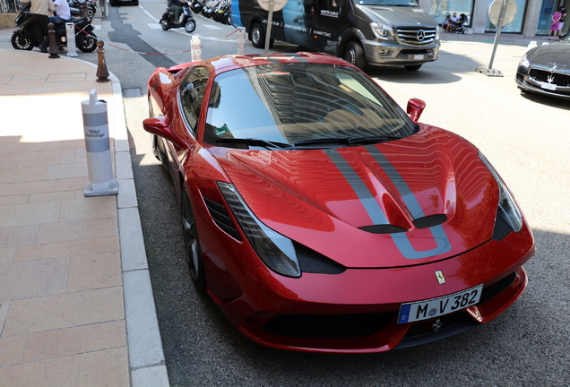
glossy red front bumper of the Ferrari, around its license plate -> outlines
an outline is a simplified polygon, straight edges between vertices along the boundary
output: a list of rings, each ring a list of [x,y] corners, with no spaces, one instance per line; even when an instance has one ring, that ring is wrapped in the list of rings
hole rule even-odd
[[[535,247],[523,228],[445,261],[395,269],[349,269],[289,279],[264,273],[220,309],[251,340],[271,348],[329,353],[383,352],[444,339],[488,323],[527,285],[522,264]],[[443,271],[445,285],[436,281]],[[397,323],[400,305],[484,284],[473,305],[417,323]],[[215,299],[215,298],[214,298]]]

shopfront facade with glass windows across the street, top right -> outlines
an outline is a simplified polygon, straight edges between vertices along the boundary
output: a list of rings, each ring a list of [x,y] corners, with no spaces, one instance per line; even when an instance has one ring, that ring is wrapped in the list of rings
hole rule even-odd
[[[497,1],[502,3],[502,0]],[[552,14],[560,5],[570,5],[570,0],[514,1],[517,4],[514,21],[505,26],[501,33],[514,33],[525,37],[548,35]],[[493,0],[419,0],[419,5],[440,23],[444,21],[447,14],[465,13],[469,18],[467,26],[474,33],[497,31],[497,26],[493,25],[488,18],[488,9],[492,3]],[[560,33],[568,33],[569,28],[570,19],[567,19]]]

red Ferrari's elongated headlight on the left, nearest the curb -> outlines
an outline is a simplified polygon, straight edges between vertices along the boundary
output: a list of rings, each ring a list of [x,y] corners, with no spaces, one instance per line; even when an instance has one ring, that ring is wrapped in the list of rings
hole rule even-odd
[[[238,219],[249,243],[254,246],[255,252],[272,271],[287,277],[298,278],[301,269],[293,242],[271,228],[265,226],[255,217],[244,199],[238,193],[235,185],[218,182],[229,208]]]

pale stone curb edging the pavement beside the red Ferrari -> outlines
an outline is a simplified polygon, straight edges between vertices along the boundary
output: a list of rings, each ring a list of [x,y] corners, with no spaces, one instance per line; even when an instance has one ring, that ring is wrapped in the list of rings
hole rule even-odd
[[[89,64],[97,69],[97,65],[91,62],[73,57],[68,59]],[[121,82],[113,73],[109,73],[109,79],[113,82],[114,98],[113,116],[109,116],[108,121],[109,124],[112,123],[109,128],[113,133],[115,174],[119,182],[117,217],[131,385],[168,387],[168,373],[134,186]]]

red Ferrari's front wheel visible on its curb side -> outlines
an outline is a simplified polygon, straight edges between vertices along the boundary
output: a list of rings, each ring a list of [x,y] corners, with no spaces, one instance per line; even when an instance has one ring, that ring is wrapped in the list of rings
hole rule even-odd
[[[192,277],[194,287],[198,290],[203,290],[206,288],[206,277],[203,270],[202,249],[200,248],[196,220],[186,188],[182,190],[181,200],[182,233],[184,236],[186,260],[190,268],[190,277]]]

